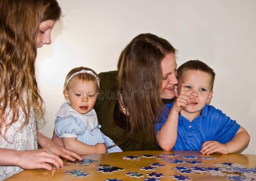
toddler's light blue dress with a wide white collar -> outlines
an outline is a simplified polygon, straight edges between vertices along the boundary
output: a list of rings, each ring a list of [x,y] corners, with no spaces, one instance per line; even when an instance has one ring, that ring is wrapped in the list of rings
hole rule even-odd
[[[74,110],[69,102],[61,105],[56,113],[55,133],[60,137],[76,137],[87,145],[105,143],[107,147],[115,143],[100,131],[97,114],[94,109],[86,114],[81,114]],[[108,148],[108,153],[121,152],[118,146]]]

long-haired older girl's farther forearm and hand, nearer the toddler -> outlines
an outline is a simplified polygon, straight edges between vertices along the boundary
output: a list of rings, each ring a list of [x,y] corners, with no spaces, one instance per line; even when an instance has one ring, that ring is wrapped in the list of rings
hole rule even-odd
[[[82,160],[83,157],[80,155],[77,155],[75,152],[70,151],[58,144],[56,144],[55,142],[53,142],[50,138],[44,136],[42,133],[40,133],[39,131],[37,131],[37,141],[38,144],[42,147],[42,148],[46,148],[48,150],[50,150],[51,152],[63,157],[63,158],[67,158],[71,161],[75,161],[75,158],[77,158],[78,160]]]

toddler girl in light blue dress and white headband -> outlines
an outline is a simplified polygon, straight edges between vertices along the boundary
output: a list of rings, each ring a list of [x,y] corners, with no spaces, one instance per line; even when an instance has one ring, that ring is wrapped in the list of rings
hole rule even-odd
[[[122,151],[99,129],[101,126],[93,109],[99,81],[99,76],[92,69],[72,69],[66,77],[63,91],[69,102],[62,104],[56,113],[55,133],[62,138],[65,148],[80,155]]]

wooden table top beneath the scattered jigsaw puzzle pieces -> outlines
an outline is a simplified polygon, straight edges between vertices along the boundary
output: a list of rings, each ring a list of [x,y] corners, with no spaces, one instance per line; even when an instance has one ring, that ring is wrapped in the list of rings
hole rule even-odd
[[[202,161],[203,164],[196,164],[192,165],[190,163],[180,163],[180,164],[172,164],[168,162],[164,162],[161,159],[157,158],[145,158],[141,157],[142,154],[147,155],[156,155],[159,156],[162,153],[170,154],[174,153],[178,156],[173,157],[178,160],[188,161],[188,159],[183,158],[183,156],[197,156],[196,159],[189,159],[191,160],[197,160]],[[140,156],[139,160],[124,160],[123,156]],[[201,159],[200,157],[204,156],[213,156],[217,157],[217,159],[214,160],[205,160]],[[129,152],[119,152],[119,153],[105,153],[105,154],[96,154],[96,155],[87,155],[84,156],[84,158],[87,159],[93,159],[98,160],[100,162],[98,163],[92,163],[89,165],[75,165],[69,163],[71,166],[66,167],[60,170],[52,169],[52,171],[44,170],[44,169],[34,169],[34,170],[24,170],[9,179],[7,181],[20,181],[20,180],[31,180],[31,181],[49,181],[49,180],[63,180],[63,181],[69,181],[69,180],[92,180],[92,181],[104,181],[105,179],[114,179],[117,178],[118,180],[133,180],[133,181],[142,181],[144,178],[148,177],[147,173],[157,172],[157,173],[164,173],[165,177],[161,177],[161,181],[164,180],[173,180],[174,178],[169,177],[168,175],[184,175],[189,176],[192,178],[192,180],[226,180],[226,176],[212,176],[211,174],[207,173],[192,173],[192,174],[180,174],[176,170],[173,170],[171,168],[174,168],[176,166],[184,166],[184,167],[214,167],[212,164],[215,163],[240,163],[245,165],[247,168],[255,168],[256,167],[256,155],[246,155],[246,154],[228,154],[228,155],[220,155],[220,154],[211,154],[211,155],[201,155],[198,151],[129,151]],[[150,163],[162,163],[167,165],[166,167],[156,168],[156,171],[152,170],[140,170],[141,166],[150,166]],[[125,170],[117,171],[114,173],[102,173],[97,171],[96,165],[98,164],[108,164],[120,168],[124,168]],[[75,177],[71,174],[65,174],[65,170],[83,170],[86,173],[90,173],[91,175],[87,177]],[[139,172],[144,175],[144,177],[141,178],[134,178],[127,176],[125,173],[128,171],[132,172]],[[227,173],[228,174],[228,173]],[[236,173],[231,173],[236,174]]]

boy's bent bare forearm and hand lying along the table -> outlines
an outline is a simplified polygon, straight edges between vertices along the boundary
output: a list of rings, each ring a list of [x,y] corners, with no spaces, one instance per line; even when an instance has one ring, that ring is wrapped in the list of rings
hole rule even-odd
[[[247,145],[249,141],[250,135],[243,127],[240,127],[235,136],[227,143],[222,144],[218,141],[205,141],[200,152],[202,154],[211,154],[214,152],[221,154],[234,153],[244,148],[244,146]]]

